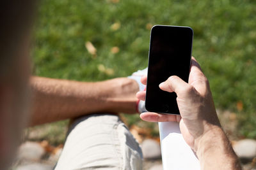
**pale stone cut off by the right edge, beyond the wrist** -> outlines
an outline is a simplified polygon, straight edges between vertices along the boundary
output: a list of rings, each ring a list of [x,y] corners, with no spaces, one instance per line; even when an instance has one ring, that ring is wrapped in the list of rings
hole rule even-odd
[[[256,141],[243,139],[234,143],[234,151],[240,159],[253,159],[256,157]]]

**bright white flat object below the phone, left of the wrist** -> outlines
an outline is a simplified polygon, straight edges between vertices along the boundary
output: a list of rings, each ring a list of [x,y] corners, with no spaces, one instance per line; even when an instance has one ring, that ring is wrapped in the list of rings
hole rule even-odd
[[[163,169],[200,169],[200,163],[180,132],[177,122],[159,122]]]

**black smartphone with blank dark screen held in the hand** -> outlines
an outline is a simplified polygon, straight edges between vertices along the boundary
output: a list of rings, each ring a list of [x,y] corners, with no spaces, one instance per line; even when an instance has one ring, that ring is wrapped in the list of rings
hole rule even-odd
[[[179,115],[177,95],[159,89],[170,76],[188,82],[191,65],[193,29],[170,25],[154,25],[150,34],[145,108],[157,113]]]

